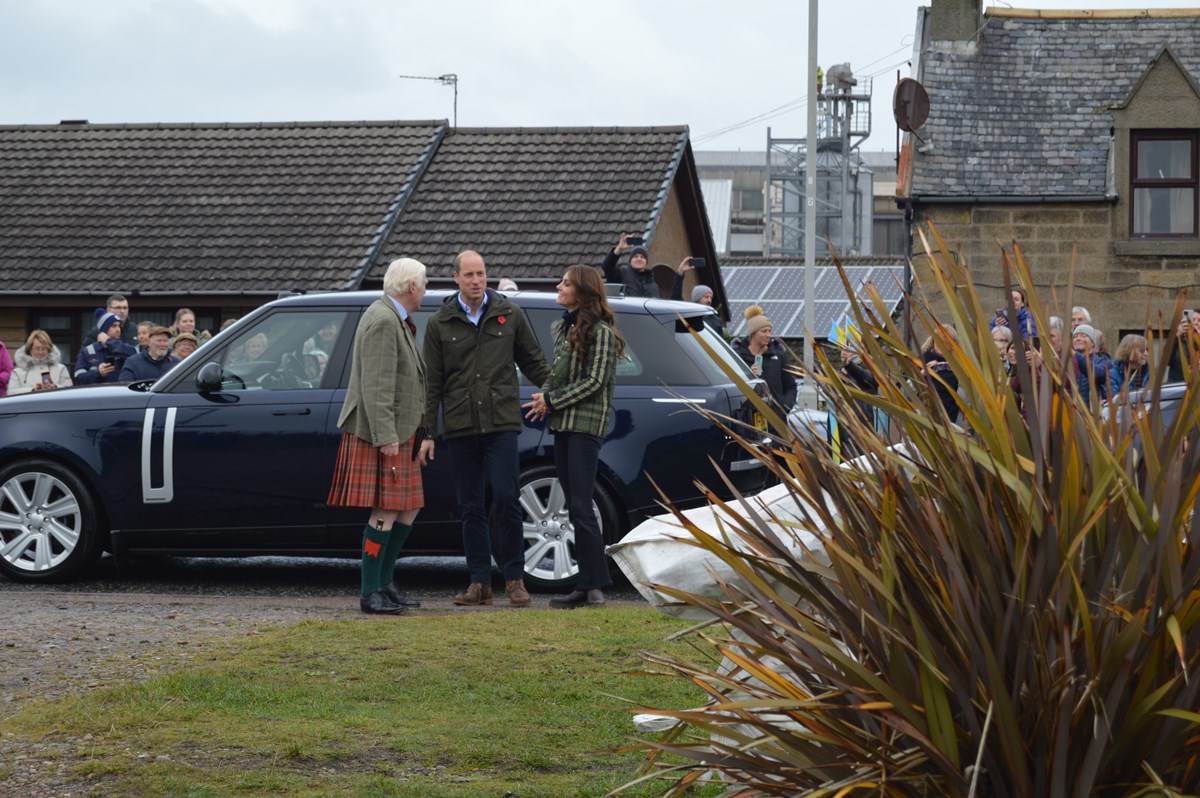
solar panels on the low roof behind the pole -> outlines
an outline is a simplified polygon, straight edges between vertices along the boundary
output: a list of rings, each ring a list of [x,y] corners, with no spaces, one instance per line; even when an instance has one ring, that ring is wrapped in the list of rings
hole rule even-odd
[[[844,266],[846,280],[860,301],[866,300],[863,287],[875,286],[888,308],[895,312],[902,298],[904,264]],[[836,266],[820,265],[814,280],[814,336],[823,338],[834,322],[844,323],[850,313],[850,300],[838,275]],[[725,295],[730,307],[732,335],[745,335],[745,308],[761,305],[778,337],[804,337],[803,265],[749,265],[721,269]]]

